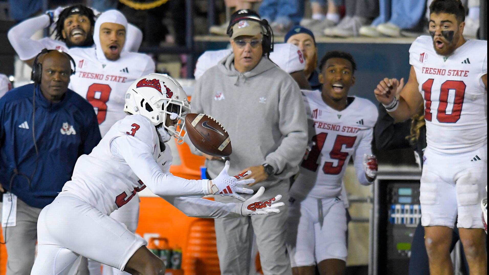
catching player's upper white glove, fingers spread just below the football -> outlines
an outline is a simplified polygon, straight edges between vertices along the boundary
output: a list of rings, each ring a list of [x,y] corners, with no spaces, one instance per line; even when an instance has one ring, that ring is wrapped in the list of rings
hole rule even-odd
[[[238,195],[239,193],[252,194],[253,190],[247,188],[238,187],[240,185],[254,183],[254,179],[242,179],[244,176],[247,176],[251,173],[251,171],[246,171],[245,173],[241,173],[236,176],[230,176],[227,174],[227,170],[229,169],[229,161],[226,160],[224,165],[224,169],[222,169],[219,175],[209,181],[209,190],[211,194],[216,195],[220,194],[221,196],[231,196],[240,201],[245,201],[244,198]],[[240,180],[241,179],[241,180]]]

